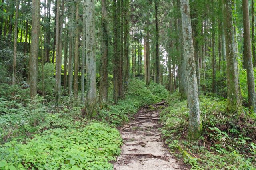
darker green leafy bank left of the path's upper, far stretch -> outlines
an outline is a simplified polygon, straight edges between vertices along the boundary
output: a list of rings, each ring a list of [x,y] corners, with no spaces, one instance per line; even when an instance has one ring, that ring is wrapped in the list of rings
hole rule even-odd
[[[120,126],[128,122],[141,106],[160,102],[168,96],[168,91],[162,85],[151,82],[150,86],[146,87],[144,81],[132,79],[125,99],[119,100],[117,105],[109,105],[102,109],[99,117],[112,125]]]

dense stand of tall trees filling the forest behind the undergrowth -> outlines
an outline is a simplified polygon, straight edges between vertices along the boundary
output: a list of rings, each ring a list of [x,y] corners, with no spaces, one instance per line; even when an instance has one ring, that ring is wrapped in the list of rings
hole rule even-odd
[[[200,95],[226,97],[230,114],[255,111],[253,0],[2,0],[0,21],[1,42],[13,45],[9,83],[29,82],[32,100],[50,95],[44,65],[53,63],[55,109],[68,95],[95,116],[110,89],[118,103],[129,80],[143,77],[187,98],[192,139],[202,132]],[[18,65],[17,51],[29,53]]]

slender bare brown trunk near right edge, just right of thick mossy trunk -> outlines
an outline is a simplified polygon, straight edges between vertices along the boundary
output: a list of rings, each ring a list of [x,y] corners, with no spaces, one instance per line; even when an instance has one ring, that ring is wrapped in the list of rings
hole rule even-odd
[[[255,112],[255,84],[254,72],[252,65],[251,39],[250,39],[250,18],[249,18],[249,2],[243,0],[243,18],[244,18],[244,57],[247,72],[247,87],[248,87],[248,103],[249,108]]]

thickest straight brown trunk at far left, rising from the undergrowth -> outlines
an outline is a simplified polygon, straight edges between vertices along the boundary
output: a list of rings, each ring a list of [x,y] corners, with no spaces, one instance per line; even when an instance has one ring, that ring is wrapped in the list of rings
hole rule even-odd
[[[38,45],[40,28],[40,0],[32,0],[32,35],[30,45],[30,99],[35,99],[37,92]]]

